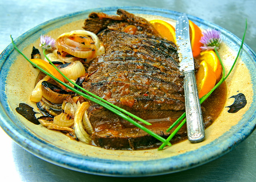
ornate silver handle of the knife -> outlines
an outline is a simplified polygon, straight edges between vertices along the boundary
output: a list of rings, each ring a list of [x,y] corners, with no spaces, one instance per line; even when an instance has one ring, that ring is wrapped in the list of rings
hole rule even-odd
[[[191,143],[204,140],[204,124],[194,70],[184,72],[187,137]]]

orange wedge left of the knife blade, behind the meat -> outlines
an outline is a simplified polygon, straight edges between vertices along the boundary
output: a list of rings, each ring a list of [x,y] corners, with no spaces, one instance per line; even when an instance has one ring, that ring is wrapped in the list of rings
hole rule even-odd
[[[174,42],[176,44],[175,28],[173,25],[163,20],[150,20],[150,24],[160,33],[160,35],[166,40]]]

